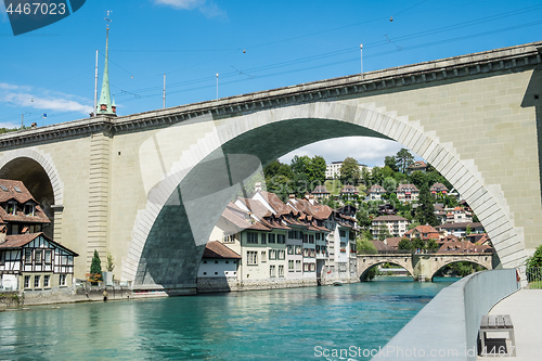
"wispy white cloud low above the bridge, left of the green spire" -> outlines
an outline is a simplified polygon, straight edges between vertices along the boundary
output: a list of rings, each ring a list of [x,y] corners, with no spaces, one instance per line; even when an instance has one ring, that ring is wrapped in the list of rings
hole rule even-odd
[[[9,103],[11,106],[30,107],[40,111],[76,112],[85,115],[92,112],[92,106],[85,104],[90,104],[90,101],[61,92],[5,82],[0,82],[0,102]]]

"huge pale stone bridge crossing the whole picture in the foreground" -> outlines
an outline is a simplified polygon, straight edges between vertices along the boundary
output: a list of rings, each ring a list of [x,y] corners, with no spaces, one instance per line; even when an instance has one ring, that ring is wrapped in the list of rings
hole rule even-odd
[[[136,287],[193,291],[228,202],[271,160],[315,141],[391,139],[430,163],[488,231],[504,267],[542,243],[542,42],[0,136],[54,240],[96,249]],[[363,144],[360,144],[363,146]]]

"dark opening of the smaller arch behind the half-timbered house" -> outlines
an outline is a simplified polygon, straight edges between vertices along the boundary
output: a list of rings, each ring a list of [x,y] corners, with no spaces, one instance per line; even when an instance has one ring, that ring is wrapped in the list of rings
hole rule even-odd
[[[52,208],[54,205],[54,191],[43,167],[29,157],[17,157],[8,162],[0,169],[0,178],[18,180],[25,184],[51,220],[51,223],[43,229],[43,232],[52,238],[54,231],[54,210]]]

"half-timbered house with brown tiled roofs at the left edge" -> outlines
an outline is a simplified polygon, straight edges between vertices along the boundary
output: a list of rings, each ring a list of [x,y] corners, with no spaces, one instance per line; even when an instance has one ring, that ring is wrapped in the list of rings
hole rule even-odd
[[[72,294],[78,255],[43,233],[50,223],[23,182],[0,179],[0,291]]]

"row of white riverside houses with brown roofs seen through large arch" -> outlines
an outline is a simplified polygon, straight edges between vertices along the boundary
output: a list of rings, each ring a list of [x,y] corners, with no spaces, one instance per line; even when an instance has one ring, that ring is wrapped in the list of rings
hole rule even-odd
[[[222,212],[198,270],[198,292],[357,282],[356,219],[310,195],[258,189]]]

